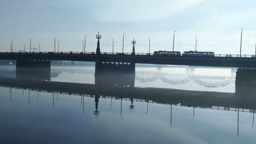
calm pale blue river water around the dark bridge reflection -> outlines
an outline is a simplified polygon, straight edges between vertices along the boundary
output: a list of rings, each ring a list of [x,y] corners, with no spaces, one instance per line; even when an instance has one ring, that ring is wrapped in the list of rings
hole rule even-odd
[[[0,77],[9,77],[8,83],[0,80],[1,143],[256,143],[256,101],[248,96],[254,84],[237,87],[234,69],[136,67],[138,93],[132,95],[120,88],[83,93],[95,83],[94,67],[51,67],[45,83],[65,83],[62,92],[35,88],[36,80],[18,84],[15,71],[0,67]],[[67,93],[73,83],[82,88]]]

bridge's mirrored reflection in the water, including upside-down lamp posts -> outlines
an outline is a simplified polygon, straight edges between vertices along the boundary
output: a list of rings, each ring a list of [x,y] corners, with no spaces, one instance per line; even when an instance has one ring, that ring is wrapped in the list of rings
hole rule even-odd
[[[171,126],[175,125],[172,123],[172,107],[192,107],[193,112],[195,108],[204,109],[218,109],[218,110],[229,110],[237,111],[237,124],[239,124],[239,112],[250,112],[253,115],[254,124],[254,113],[256,109],[256,97],[254,96],[255,85],[256,85],[256,75],[254,70],[248,69],[238,69],[237,76],[235,77],[218,77],[219,81],[229,83],[233,82],[235,79],[236,92],[235,93],[222,93],[222,92],[209,92],[209,91],[186,91],[178,89],[165,89],[165,88],[136,88],[134,87],[134,80],[140,81],[150,81],[161,79],[164,82],[182,81],[187,82],[192,80],[197,82],[199,80],[206,82],[202,77],[197,77],[195,75],[178,75],[180,78],[174,78],[173,75],[155,75],[147,74],[135,74],[133,72],[126,72],[125,77],[122,73],[101,73],[95,75],[95,84],[81,84],[81,83],[63,83],[63,82],[52,82],[52,81],[42,81],[37,78],[27,78],[27,77],[17,77],[17,78],[0,78],[0,85],[2,87],[10,88],[10,99],[12,98],[12,89],[21,89],[29,91],[28,103],[30,101],[30,91],[53,93],[53,107],[54,100],[58,99],[58,94],[67,94],[74,96],[81,96],[81,104],[83,101],[83,112],[84,111],[84,97],[92,97],[95,99],[95,111],[94,115],[99,115],[99,99],[112,99],[120,100],[120,117],[122,117],[122,101],[131,101],[130,109],[135,109],[136,106],[133,105],[133,101],[149,103],[160,103],[170,105],[171,112]],[[32,77],[35,75],[32,75]],[[177,76],[177,75],[176,75]],[[47,76],[48,77],[48,76]],[[142,78],[141,78],[142,77]],[[216,79],[216,77],[213,77]],[[217,79],[218,79],[217,78]],[[47,79],[47,78],[46,78]],[[166,80],[168,79],[168,80]],[[109,83],[111,81],[111,83]],[[209,81],[207,81],[209,82]],[[173,84],[173,82],[172,82]],[[176,83],[177,84],[177,83]],[[199,83],[200,84],[200,83]],[[210,86],[218,86],[211,84]],[[209,85],[209,84],[208,84]],[[222,83],[223,85],[223,83]],[[57,97],[54,97],[57,96]],[[38,97],[37,97],[38,98]],[[147,114],[146,112],[146,114]],[[193,113],[193,118],[195,114]],[[237,125],[237,134],[238,134]]]

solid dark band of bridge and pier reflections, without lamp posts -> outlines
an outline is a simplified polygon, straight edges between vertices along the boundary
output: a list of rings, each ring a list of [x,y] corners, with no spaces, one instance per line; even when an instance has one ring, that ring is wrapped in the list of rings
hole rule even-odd
[[[107,66],[106,66],[107,65]],[[95,95],[117,98],[144,99],[163,104],[183,104],[188,107],[233,107],[241,109],[256,109],[256,72],[248,69],[238,69],[235,81],[235,93],[211,91],[187,91],[167,88],[137,88],[134,87],[135,71],[115,72],[117,64],[104,64],[100,72],[95,70],[95,84],[64,83],[50,81],[51,69],[48,67],[30,69],[16,68],[16,78],[0,77],[3,87],[30,89],[51,93],[66,93],[70,95]],[[109,67],[109,65],[111,65]],[[131,67],[131,65],[128,65]],[[31,74],[35,72],[34,74]],[[46,81],[45,81],[46,80]]]

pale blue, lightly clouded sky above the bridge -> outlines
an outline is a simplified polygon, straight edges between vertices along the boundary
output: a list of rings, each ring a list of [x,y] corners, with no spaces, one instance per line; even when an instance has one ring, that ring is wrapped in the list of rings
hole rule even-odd
[[[96,51],[101,35],[101,52],[150,53],[213,51],[216,54],[255,54],[255,0],[1,0],[0,51]],[[35,50],[35,51],[38,51]]]

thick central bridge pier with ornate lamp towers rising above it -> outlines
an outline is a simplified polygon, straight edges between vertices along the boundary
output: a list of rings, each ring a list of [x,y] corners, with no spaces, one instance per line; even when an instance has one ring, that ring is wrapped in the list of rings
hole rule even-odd
[[[98,43],[96,49],[95,63],[95,85],[102,87],[134,87],[135,83],[135,63],[113,63],[112,61],[102,61],[100,52],[100,35],[97,35]],[[133,40],[133,52],[135,47]]]

